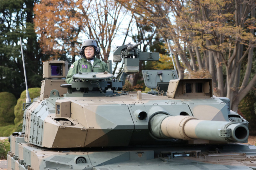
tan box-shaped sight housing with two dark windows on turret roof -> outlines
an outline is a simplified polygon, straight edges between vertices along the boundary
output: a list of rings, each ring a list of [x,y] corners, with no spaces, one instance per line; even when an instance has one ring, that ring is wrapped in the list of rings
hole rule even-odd
[[[167,96],[178,99],[210,98],[212,97],[212,79],[170,80]]]

